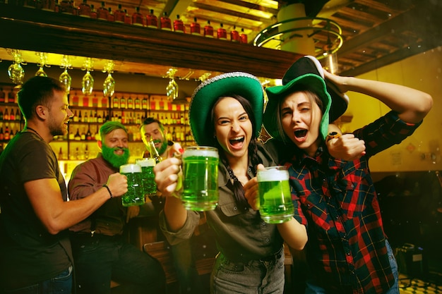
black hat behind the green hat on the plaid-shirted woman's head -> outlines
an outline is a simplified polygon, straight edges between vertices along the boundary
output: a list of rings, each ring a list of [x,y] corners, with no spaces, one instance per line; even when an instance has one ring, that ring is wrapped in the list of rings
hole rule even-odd
[[[284,77],[282,78],[282,85],[286,85],[294,78],[305,75],[306,73],[313,73],[325,79],[322,65],[318,59],[313,56],[306,55],[295,61],[285,72]],[[345,113],[350,99],[348,98],[347,94],[341,93],[338,90],[338,87],[336,87],[333,82],[330,82],[330,80],[325,80],[325,85],[327,87],[327,92],[330,94],[332,99],[329,118],[330,123],[333,123],[333,121]]]

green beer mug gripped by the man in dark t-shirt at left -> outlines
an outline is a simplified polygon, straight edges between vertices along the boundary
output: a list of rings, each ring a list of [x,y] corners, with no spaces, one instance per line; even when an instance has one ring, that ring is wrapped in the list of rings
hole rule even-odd
[[[143,205],[144,192],[141,166],[138,164],[124,164],[120,166],[120,173],[127,178],[127,192],[121,196],[123,206]]]

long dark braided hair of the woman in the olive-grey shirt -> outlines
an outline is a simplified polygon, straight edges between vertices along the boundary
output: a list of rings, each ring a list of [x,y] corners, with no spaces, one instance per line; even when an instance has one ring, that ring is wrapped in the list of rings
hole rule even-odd
[[[246,111],[247,115],[249,116],[249,120],[251,121],[251,125],[252,125],[252,136],[251,136],[251,140],[249,143],[249,148],[248,148],[248,154],[249,154],[249,162],[251,163],[251,166],[253,168],[253,174],[256,174],[256,170],[257,170],[257,166],[258,164],[262,164],[263,161],[261,161],[261,159],[258,157],[258,140],[256,137],[256,128],[261,128],[261,125],[256,125],[256,121],[255,121],[255,114],[253,114],[253,109],[251,106],[251,103],[249,102],[248,99],[239,96],[237,94],[229,94],[229,95],[225,95],[222,97],[219,97],[217,99],[217,101],[215,102],[215,104],[213,104],[212,107],[212,113],[210,114],[210,118],[211,118],[211,124],[210,124],[210,129],[212,130],[212,134],[215,134],[215,106],[218,104],[218,102],[220,102],[222,99],[226,98],[226,97],[232,97],[234,99],[236,99],[243,107],[244,110]],[[249,209],[249,203],[246,200],[246,197],[244,197],[244,188],[241,185],[241,182],[239,182],[237,176],[235,176],[232,168],[229,165],[229,161],[227,161],[227,157],[226,154],[224,152],[224,150],[222,149],[220,143],[216,140],[216,138],[214,138],[214,147],[217,147],[218,150],[222,150],[222,152],[220,152],[220,161],[222,162],[222,164],[224,164],[227,168],[227,171],[229,172],[229,176],[230,178],[233,180],[233,184],[232,182],[229,180],[227,182],[228,187],[230,188],[230,190],[232,190],[235,200],[237,201],[237,205],[238,208],[240,209],[241,212],[244,212],[245,210]]]

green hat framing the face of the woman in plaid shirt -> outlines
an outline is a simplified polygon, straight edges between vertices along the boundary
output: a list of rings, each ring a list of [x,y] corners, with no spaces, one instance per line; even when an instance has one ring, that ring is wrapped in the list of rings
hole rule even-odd
[[[277,130],[277,107],[282,99],[297,90],[311,90],[321,98],[323,102],[323,117],[320,124],[320,133],[323,140],[325,140],[328,133],[328,111],[330,110],[331,97],[327,92],[323,78],[314,73],[301,75],[294,78],[294,80],[289,81],[286,85],[265,88],[268,97],[267,106],[265,106],[263,115],[265,130],[275,139],[282,140],[282,137]]]

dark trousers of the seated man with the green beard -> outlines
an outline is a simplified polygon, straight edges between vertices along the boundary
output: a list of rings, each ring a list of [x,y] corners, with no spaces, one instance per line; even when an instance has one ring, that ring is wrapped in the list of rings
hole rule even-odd
[[[71,243],[78,294],[109,294],[111,280],[121,285],[118,293],[165,293],[160,262],[135,246],[97,234],[73,234]]]

